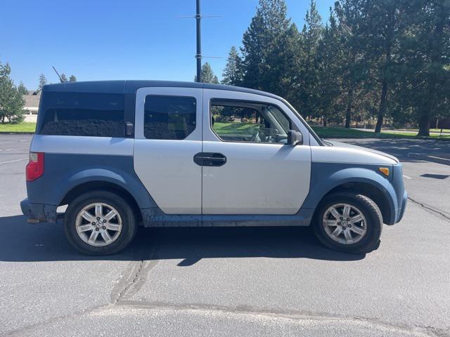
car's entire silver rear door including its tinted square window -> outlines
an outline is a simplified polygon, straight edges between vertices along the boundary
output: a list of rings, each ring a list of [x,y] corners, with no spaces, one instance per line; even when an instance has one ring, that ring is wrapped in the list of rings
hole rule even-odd
[[[166,214],[200,214],[201,88],[139,88],[134,171]]]

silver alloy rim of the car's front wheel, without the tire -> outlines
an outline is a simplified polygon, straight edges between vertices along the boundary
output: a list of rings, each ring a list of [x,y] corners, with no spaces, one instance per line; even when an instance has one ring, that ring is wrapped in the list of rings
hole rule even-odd
[[[367,232],[366,217],[351,204],[329,206],[323,213],[322,224],[330,239],[345,245],[356,244]]]

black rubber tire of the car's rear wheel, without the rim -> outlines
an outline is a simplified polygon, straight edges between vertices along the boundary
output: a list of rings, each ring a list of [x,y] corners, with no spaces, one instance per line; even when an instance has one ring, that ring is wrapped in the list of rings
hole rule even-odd
[[[78,213],[89,204],[101,202],[113,206],[122,218],[122,231],[117,239],[107,246],[92,246],[82,240],[77,233]],[[87,192],[74,199],[68,206],[64,218],[65,235],[77,251],[87,255],[110,255],[122,251],[134,239],[137,230],[136,217],[129,203],[120,195],[108,191]]]

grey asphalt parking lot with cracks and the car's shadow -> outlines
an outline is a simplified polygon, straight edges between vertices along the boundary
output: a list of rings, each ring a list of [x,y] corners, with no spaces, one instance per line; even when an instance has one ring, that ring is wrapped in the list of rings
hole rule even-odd
[[[450,142],[345,140],[399,157],[411,197],[367,255],[266,227],[141,230],[91,258],[21,216],[30,139],[0,135],[0,334],[450,336],[450,166],[408,157]]]

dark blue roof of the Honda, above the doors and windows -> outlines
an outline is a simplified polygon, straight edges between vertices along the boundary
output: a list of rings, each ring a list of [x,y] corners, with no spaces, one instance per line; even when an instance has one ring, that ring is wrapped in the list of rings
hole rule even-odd
[[[75,92],[75,93],[136,93],[139,88],[146,87],[179,87],[179,88],[205,88],[226,91],[239,91],[242,93],[255,93],[271,98],[282,100],[282,98],[272,93],[259,91],[240,86],[226,86],[224,84],[209,84],[198,82],[181,81],[140,81],[140,80],[119,80],[119,81],[80,81],[66,82],[58,84],[47,84],[44,91],[53,92]]]

